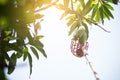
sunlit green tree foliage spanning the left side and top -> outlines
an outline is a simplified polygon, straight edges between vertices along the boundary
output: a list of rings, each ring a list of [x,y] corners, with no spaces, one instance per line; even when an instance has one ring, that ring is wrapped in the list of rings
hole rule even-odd
[[[8,74],[11,74],[17,59],[21,57],[23,61],[28,59],[30,74],[33,60],[31,54],[39,59],[40,51],[47,58],[41,42],[43,35],[38,34],[45,16],[41,11],[51,6],[63,10],[61,19],[67,21],[70,28],[68,35],[72,35],[73,40],[84,46],[89,37],[90,25],[109,32],[99,23],[104,24],[105,19],[114,18],[112,5],[118,2],[119,0],[0,0],[0,78],[4,76],[4,68],[8,68]],[[81,52],[77,53],[80,57]]]

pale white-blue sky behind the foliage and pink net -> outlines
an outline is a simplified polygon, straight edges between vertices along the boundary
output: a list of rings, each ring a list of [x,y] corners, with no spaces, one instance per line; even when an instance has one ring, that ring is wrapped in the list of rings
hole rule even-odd
[[[100,80],[120,80],[120,5],[114,6],[114,19],[101,25],[110,33],[97,26],[90,26],[88,58],[98,73]],[[59,20],[61,11],[52,7],[44,12],[39,34],[48,58],[39,53],[37,60],[33,55],[33,72],[29,77],[29,65],[18,60],[23,67],[16,67],[8,75],[10,80],[95,80],[85,58],[77,58],[70,51],[72,36],[68,36],[69,27],[65,20]],[[18,65],[19,65],[18,64]]]

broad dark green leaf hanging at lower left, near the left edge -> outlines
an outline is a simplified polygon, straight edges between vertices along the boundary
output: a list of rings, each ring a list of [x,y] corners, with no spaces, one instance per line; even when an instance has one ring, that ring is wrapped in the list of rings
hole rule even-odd
[[[13,53],[10,58],[9,65],[8,65],[8,74],[11,74],[14,71],[16,62],[17,62],[17,57],[16,57],[15,53]]]

